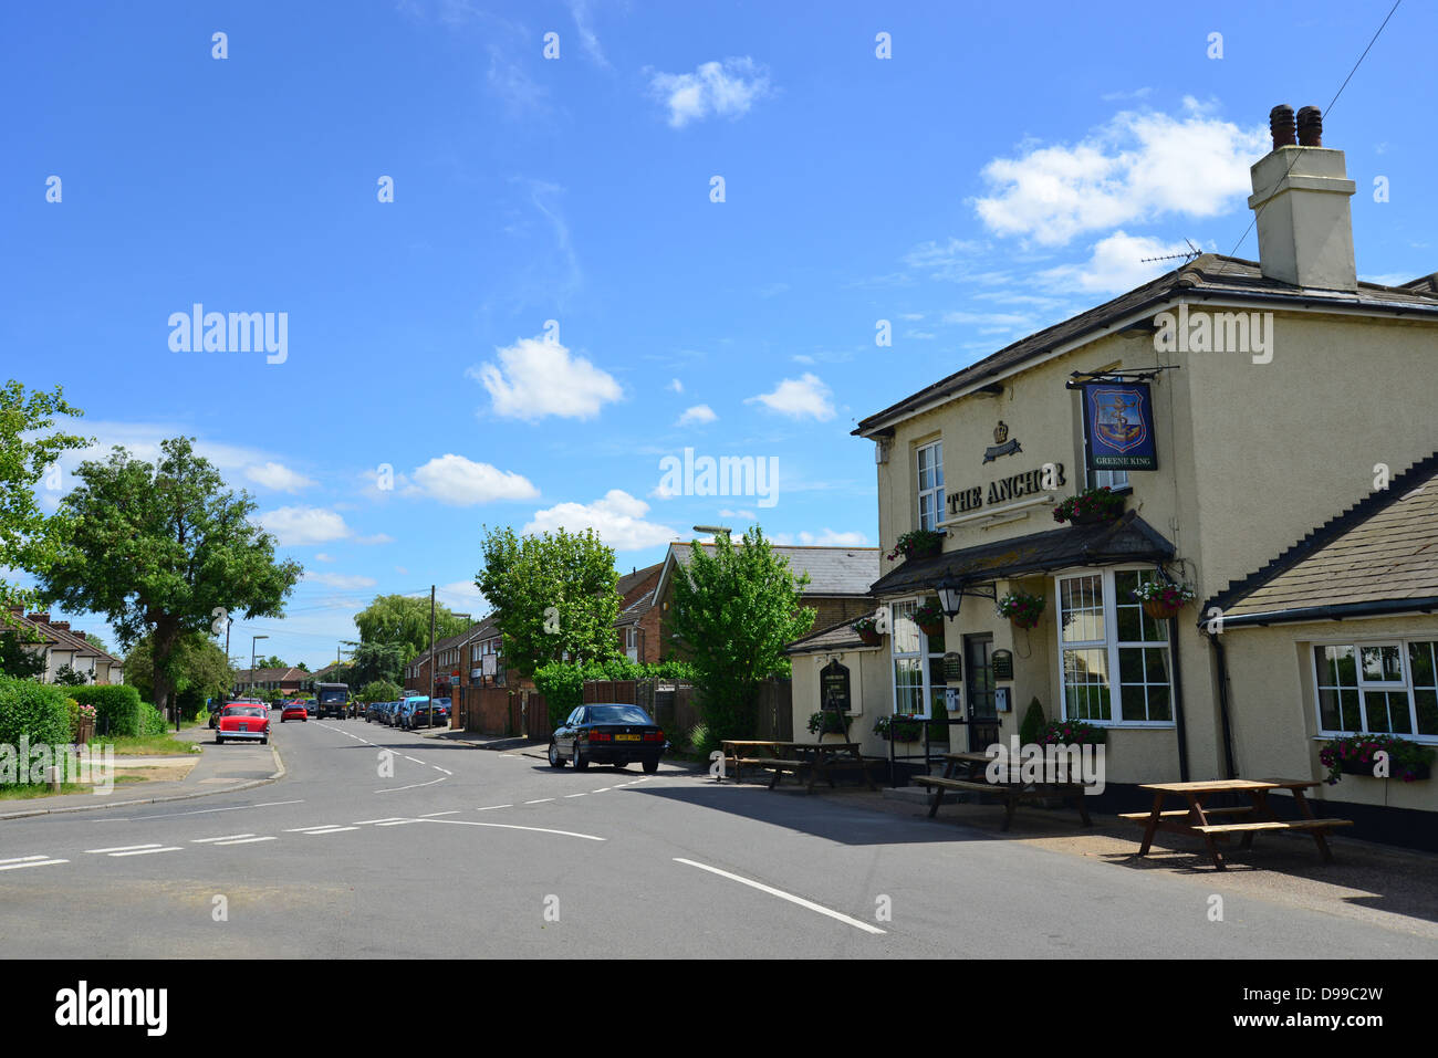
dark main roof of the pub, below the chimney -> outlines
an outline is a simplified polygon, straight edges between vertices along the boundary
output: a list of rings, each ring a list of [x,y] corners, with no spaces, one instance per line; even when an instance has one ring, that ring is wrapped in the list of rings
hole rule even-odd
[[[1267,279],[1260,270],[1258,262],[1205,253],[1143,286],[1028,335],[962,371],[905,397],[897,404],[860,421],[851,433],[858,437],[884,434],[894,423],[909,418],[935,402],[982,385],[985,380],[1038,359],[1063,345],[1083,338],[1099,338],[1102,336],[1099,332],[1112,331],[1126,321],[1132,323],[1132,318],[1153,312],[1175,298],[1212,298],[1270,305],[1284,302],[1293,308],[1332,306],[1378,315],[1429,315],[1438,318],[1438,273],[1414,279],[1402,286],[1360,282],[1356,292],[1319,290]]]

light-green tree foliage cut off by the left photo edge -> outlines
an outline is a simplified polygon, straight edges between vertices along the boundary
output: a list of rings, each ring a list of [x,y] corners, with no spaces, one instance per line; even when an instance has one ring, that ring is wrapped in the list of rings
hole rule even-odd
[[[59,474],[55,460],[92,441],[50,433],[55,415],[85,413],[55,392],[30,392],[13,378],[0,388],[0,574],[23,569],[43,574],[63,536],[63,518],[46,516],[35,500],[35,486]],[[58,486],[58,479],[55,480]],[[35,592],[0,576],[0,622],[12,624],[10,608],[27,607]]]

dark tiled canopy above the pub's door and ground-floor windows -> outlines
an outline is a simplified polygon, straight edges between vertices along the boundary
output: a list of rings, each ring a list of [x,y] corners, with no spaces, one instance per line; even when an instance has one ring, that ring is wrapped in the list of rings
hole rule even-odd
[[[942,579],[962,586],[1068,566],[1166,562],[1171,558],[1173,545],[1129,510],[1116,522],[1064,526],[910,559],[879,578],[870,591],[879,597],[913,595],[932,589]]]

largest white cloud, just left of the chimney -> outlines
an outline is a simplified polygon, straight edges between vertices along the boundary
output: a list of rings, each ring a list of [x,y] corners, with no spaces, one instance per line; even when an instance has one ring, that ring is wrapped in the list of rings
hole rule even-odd
[[[1063,246],[1084,231],[1171,213],[1214,217],[1247,194],[1265,131],[1240,128],[1183,101],[1179,118],[1123,111],[1076,145],[1027,145],[984,167],[994,193],[974,206],[995,233]]]

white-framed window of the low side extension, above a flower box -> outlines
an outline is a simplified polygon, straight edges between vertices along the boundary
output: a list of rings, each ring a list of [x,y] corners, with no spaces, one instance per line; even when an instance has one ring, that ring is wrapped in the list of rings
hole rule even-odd
[[[1438,643],[1320,644],[1313,667],[1324,733],[1438,737]]]

